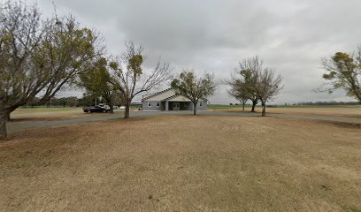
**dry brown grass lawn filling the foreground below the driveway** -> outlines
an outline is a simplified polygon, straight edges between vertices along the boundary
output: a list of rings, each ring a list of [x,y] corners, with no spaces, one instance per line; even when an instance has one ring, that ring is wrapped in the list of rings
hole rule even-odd
[[[361,130],[143,117],[12,133],[1,211],[361,211]]]

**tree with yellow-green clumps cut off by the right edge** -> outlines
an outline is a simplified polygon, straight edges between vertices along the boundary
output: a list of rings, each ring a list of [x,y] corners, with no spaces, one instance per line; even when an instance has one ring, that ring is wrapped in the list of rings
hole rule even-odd
[[[344,52],[337,52],[333,57],[322,61],[323,69],[327,73],[323,78],[330,81],[318,91],[328,91],[343,89],[350,97],[361,103],[361,46],[357,53],[349,55]]]

